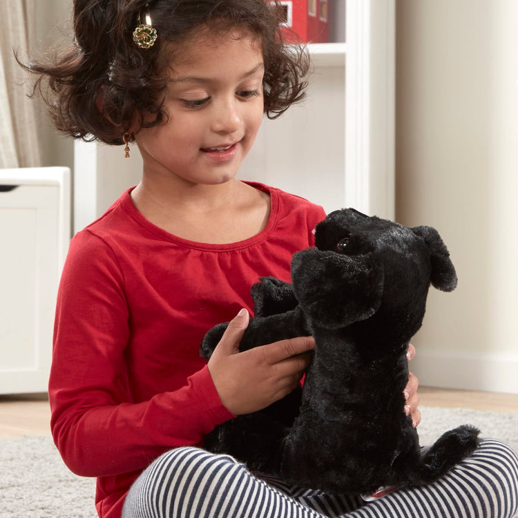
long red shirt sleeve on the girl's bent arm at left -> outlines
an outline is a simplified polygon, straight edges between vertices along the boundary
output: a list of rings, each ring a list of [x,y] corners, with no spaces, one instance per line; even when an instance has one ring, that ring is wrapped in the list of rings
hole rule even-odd
[[[70,244],[57,300],[51,429],[68,468],[86,477],[142,470],[162,452],[201,443],[233,417],[203,367],[174,392],[132,401],[131,316],[113,251],[83,231]]]

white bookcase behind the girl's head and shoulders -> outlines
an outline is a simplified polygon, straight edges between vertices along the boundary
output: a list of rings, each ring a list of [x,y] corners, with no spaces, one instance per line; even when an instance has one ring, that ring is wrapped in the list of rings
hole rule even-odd
[[[394,217],[395,0],[334,0],[333,33],[344,43],[309,45],[307,99],[265,122],[240,178],[323,205]],[[345,19],[344,19],[345,18]],[[345,31],[343,30],[345,26]],[[75,230],[140,178],[137,153],[75,144]]]

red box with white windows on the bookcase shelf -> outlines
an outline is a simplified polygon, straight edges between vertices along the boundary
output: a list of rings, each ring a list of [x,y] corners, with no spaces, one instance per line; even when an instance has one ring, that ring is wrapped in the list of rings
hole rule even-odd
[[[291,31],[307,43],[329,41],[329,0],[278,0],[270,1],[280,11],[281,25],[288,40]]]

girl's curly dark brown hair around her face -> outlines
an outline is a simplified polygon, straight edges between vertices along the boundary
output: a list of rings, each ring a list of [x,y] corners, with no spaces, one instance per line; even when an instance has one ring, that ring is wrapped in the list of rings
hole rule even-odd
[[[147,3],[158,38],[153,47],[142,49],[133,42],[133,30]],[[136,133],[167,120],[163,102],[171,44],[182,44],[202,26],[218,31],[240,28],[262,46],[265,113],[274,119],[304,97],[309,57],[303,45],[283,39],[269,3],[74,0],[75,39],[70,48],[49,61],[22,65],[39,75],[31,95],[41,95],[53,122],[66,135],[122,144],[129,128]]]

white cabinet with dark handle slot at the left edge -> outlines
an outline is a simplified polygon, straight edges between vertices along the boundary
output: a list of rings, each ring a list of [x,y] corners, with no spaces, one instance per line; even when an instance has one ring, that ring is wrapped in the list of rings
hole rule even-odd
[[[0,169],[0,394],[46,392],[70,171]]]

